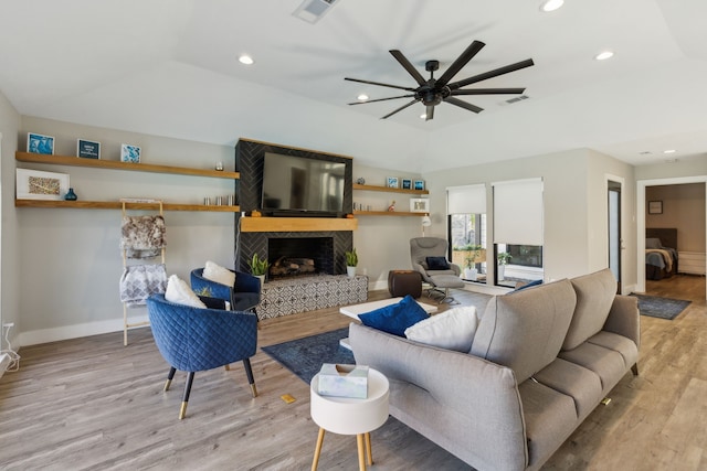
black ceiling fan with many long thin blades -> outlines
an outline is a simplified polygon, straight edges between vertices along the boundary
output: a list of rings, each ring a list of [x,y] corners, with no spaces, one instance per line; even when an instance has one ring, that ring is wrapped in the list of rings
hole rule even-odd
[[[398,50],[389,51],[393,57],[403,66],[405,71],[412,78],[418,83],[418,87],[402,87],[399,85],[391,84],[381,84],[380,82],[370,82],[370,81],[361,81],[359,78],[349,78],[345,77],[345,81],[350,82],[359,82],[361,84],[377,85],[381,87],[390,87],[390,88],[399,88],[402,90],[410,92],[408,95],[393,96],[389,98],[379,98],[379,99],[370,99],[367,101],[356,101],[349,103],[349,105],[362,105],[367,103],[374,101],[386,101],[389,99],[399,99],[399,98],[412,98],[411,101],[401,106],[400,108],[389,113],[383,116],[381,119],[390,118],[398,111],[402,111],[411,105],[414,105],[418,101],[421,101],[426,107],[425,121],[434,118],[434,107],[441,104],[442,101],[449,103],[450,105],[455,105],[461,108],[467,109],[469,111],[479,113],[483,111],[483,108],[478,106],[472,105],[458,98],[456,96],[463,95],[497,95],[497,94],[521,94],[525,92],[525,88],[474,88],[474,89],[462,89],[471,84],[475,84],[477,82],[485,81],[487,78],[497,77],[499,75],[508,74],[510,72],[519,71],[520,68],[530,67],[534,65],[531,58],[527,58],[525,61],[517,62],[515,64],[506,65],[504,67],[496,68],[494,71],[489,71],[479,75],[475,75],[473,77],[464,78],[463,81],[452,82],[450,81],[464,67],[486,44],[481,41],[474,41],[469,44],[468,47],[460,55],[450,67],[444,71],[444,74],[440,76],[440,78],[434,78],[434,71],[440,68],[439,61],[428,61],[425,63],[425,71],[430,72],[430,79],[425,81],[422,74],[418,72],[418,69],[408,61],[408,58],[402,54],[402,52]]]

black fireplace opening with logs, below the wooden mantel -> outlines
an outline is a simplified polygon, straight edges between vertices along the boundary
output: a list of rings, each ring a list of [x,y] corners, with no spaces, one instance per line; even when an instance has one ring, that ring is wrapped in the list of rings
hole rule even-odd
[[[334,237],[268,237],[270,277],[335,275]]]

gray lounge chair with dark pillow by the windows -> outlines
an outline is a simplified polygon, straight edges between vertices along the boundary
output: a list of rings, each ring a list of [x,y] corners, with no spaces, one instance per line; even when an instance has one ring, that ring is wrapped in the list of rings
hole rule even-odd
[[[464,281],[460,278],[462,269],[458,265],[452,264],[447,257],[449,244],[446,239],[440,237],[415,237],[410,239],[410,261],[412,269],[420,272],[422,280],[430,283],[434,291],[442,295],[440,302],[454,302],[450,296],[450,288],[464,288]],[[434,269],[428,264],[428,257],[443,257],[446,268]]]

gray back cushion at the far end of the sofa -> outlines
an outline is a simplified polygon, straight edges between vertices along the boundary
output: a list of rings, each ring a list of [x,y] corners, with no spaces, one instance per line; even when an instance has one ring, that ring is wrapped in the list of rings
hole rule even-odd
[[[571,280],[577,308],[562,350],[572,350],[604,327],[616,295],[616,279],[609,268]]]

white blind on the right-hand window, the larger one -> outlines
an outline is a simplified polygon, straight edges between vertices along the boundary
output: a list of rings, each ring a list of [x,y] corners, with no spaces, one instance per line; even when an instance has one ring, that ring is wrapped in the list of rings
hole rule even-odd
[[[493,183],[494,243],[542,245],[542,179]]]

